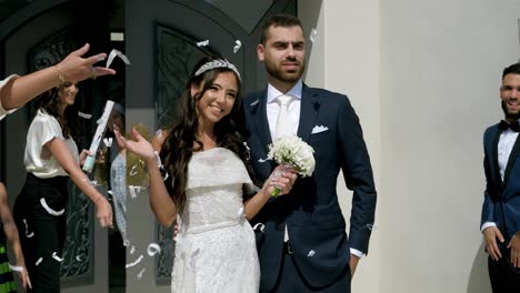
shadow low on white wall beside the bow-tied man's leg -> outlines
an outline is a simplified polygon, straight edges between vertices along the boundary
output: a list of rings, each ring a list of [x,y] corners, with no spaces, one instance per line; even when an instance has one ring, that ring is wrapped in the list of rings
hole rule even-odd
[[[471,266],[467,293],[489,293],[491,284],[488,274],[488,254],[484,251],[484,242],[480,244]]]

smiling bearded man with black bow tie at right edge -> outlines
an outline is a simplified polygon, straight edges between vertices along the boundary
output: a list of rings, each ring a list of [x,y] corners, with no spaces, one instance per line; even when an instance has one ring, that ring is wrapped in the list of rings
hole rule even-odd
[[[520,63],[503,70],[500,99],[506,119],[489,127],[483,138],[481,231],[494,293],[520,290]]]

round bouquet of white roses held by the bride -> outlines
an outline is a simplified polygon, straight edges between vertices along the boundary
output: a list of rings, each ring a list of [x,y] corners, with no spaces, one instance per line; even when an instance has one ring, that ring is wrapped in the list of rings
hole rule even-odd
[[[274,160],[279,164],[294,168],[301,176],[310,176],[314,171],[314,150],[296,135],[282,137],[269,144],[268,160]],[[272,196],[278,196],[280,189],[277,186]]]

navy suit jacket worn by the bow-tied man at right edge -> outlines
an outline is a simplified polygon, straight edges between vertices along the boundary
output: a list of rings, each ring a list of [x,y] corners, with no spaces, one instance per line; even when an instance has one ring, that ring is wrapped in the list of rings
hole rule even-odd
[[[512,235],[520,231],[520,135],[511,150],[502,181],[498,164],[500,133],[498,124],[484,132],[486,191],[480,224],[494,222],[507,240],[502,245],[507,246]],[[497,244],[501,246],[499,241]]]

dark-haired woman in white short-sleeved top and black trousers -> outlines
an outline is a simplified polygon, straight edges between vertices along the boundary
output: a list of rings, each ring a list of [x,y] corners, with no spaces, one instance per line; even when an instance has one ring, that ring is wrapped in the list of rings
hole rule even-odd
[[[68,108],[77,93],[76,83],[63,82],[40,98],[27,134],[23,161],[28,174],[14,203],[14,219],[32,281],[32,291],[28,292],[60,291],[60,262],[56,256],[61,256],[64,242],[69,176],[96,204],[100,225],[112,226],[110,203],[80,169],[71,135],[73,113]]]

